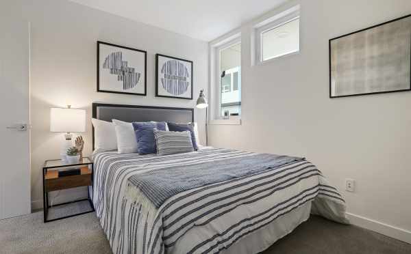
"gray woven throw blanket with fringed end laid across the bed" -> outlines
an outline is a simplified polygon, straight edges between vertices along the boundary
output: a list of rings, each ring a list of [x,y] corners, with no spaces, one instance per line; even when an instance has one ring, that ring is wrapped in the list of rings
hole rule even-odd
[[[212,151],[208,153],[212,154]],[[303,160],[275,154],[249,154],[241,157],[230,155],[225,160],[164,167],[132,175],[129,178],[129,182],[133,184],[129,195],[134,196],[134,200],[139,203],[149,202],[149,205],[160,208],[164,201],[185,190],[275,170],[287,163]],[[133,191],[135,193],[132,194]]]

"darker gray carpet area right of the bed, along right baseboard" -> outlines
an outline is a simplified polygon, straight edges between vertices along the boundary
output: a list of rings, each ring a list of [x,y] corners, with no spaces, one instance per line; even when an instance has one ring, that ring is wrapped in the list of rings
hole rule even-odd
[[[275,242],[264,254],[410,254],[411,244],[353,225],[341,225],[319,216],[302,223]]]

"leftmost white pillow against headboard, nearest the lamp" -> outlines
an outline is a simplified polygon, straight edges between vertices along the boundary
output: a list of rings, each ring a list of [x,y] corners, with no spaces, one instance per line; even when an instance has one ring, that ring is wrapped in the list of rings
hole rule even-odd
[[[115,125],[95,118],[91,122],[95,128],[95,152],[117,150]]]

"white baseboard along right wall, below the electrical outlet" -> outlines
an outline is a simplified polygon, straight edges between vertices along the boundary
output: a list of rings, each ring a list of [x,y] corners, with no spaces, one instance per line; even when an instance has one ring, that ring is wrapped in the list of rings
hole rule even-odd
[[[374,221],[371,218],[365,218],[363,216],[351,214],[349,212],[347,212],[347,216],[349,218],[349,221],[353,225],[363,227],[364,229],[369,229],[379,234],[390,236],[392,238],[411,244],[411,231],[401,229],[399,227],[394,227],[392,225],[387,225],[385,223],[380,223],[379,221]]]

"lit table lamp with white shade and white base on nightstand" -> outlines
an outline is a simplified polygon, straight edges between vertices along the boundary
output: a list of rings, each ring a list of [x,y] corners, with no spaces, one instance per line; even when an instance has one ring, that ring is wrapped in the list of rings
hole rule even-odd
[[[66,152],[69,147],[73,147],[71,132],[86,131],[86,111],[84,109],[71,109],[70,105],[67,108],[51,108],[50,131],[66,132],[60,149],[60,157],[66,161]]]

